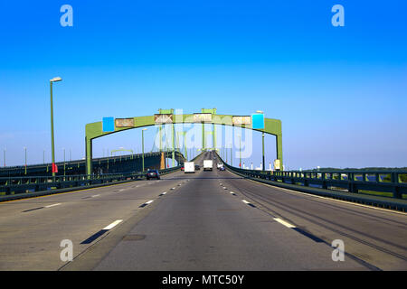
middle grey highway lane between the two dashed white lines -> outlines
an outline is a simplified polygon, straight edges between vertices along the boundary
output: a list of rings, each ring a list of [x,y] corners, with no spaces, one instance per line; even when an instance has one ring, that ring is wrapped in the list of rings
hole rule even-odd
[[[225,189],[236,176],[197,172],[128,233],[99,263],[86,254],[70,269],[95,270],[368,270],[352,258],[332,260],[333,248],[284,219]],[[248,182],[242,180],[243,182]],[[284,225],[285,224],[285,225]],[[114,234],[114,232],[112,232]],[[123,234],[123,232],[120,232]],[[102,242],[101,242],[102,243]],[[102,246],[100,244],[95,245]],[[75,262],[76,265],[75,265]]]

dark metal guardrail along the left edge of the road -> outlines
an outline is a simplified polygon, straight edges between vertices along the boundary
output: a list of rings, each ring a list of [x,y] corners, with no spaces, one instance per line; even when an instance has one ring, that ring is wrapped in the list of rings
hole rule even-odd
[[[159,170],[166,174],[179,170],[179,166]],[[111,182],[124,182],[146,177],[146,172],[106,173],[100,175],[65,175],[65,176],[39,176],[39,177],[3,177],[0,178],[0,192],[5,195],[24,194],[37,191],[53,191],[65,188],[85,188],[92,185],[103,185]]]

